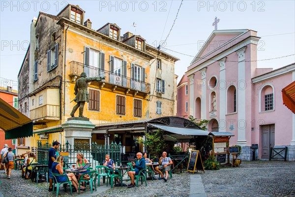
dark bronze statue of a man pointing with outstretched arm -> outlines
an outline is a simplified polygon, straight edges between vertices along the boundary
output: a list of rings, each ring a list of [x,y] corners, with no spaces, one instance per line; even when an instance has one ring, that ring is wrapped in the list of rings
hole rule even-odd
[[[79,78],[76,81],[75,84],[75,99],[74,101],[77,102],[77,104],[73,107],[73,110],[71,112],[71,117],[74,117],[75,112],[79,108],[79,117],[84,117],[83,116],[83,109],[85,102],[89,102],[89,94],[88,94],[88,82],[90,81],[101,81],[102,79],[105,79],[105,77],[87,77],[85,72],[81,73],[81,78]]]

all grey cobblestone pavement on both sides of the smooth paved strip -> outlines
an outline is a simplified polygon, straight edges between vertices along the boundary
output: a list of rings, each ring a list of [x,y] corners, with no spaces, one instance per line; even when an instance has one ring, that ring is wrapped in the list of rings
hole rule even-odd
[[[206,170],[197,173],[202,177],[207,197],[295,197],[295,162],[276,161],[243,161],[240,167],[222,167],[220,170]],[[195,173],[196,175],[196,173]],[[21,178],[21,171],[12,171],[11,179],[0,173],[0,197],[56,197],[56,193],[48,192],[46,182],[32,183]],[[106,187],[102,183],[93,194],[73,194],[81,197],[189,197],[190,174],[173,174],[167,182],[148,180],[148,186],[138,188]],[[129,184],[130,181],[124,181]],[[69,188],[69,187],[68,187]],[[194,197],[193,195],[191,195]],[[204,195],[205,196],[205,195]],[[60,187],[59,197],[70,197]]]

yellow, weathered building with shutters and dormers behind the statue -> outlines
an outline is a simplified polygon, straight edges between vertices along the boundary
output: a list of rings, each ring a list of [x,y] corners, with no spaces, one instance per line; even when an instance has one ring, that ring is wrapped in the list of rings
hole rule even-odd
[[[31,147],[36,147],[37,140],[65,143],[61,124],[67,121],[76,104],[72,101],[74,86],[81,72],[88,77],[105,77],[88,86],[89,103],[85,104],[83,115],[93,124],[152,116],[150,70],[156,66],[155,48],[148,46],[140,35],[129,32],[121,35],[117,24],[107,23],[99,30],[92,30],[91,21],[84,20],[84,13],[79,6],[68,4],[57,16],[39,12],[32,21],[30,46],[18,76],[19,87],[23,87],[19,90],[20,106],[28,103],[29,117],[34,121]],[[174,63],[178,59],[161,54],[159,57],[169,60],[173,67],[166,77],[173,79],[171,85],[175,89]],[[175,93],[167,100],[174,96]],[[169,115],[174,115],[175,106],[171,108]],[[92,141],[104,143],[95,134]]]

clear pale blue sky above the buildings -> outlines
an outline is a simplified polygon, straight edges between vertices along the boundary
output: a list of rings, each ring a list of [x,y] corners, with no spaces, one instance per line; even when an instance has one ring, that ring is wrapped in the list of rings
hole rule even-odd
[[[67,4],[79,5],[86,11],[92,29],[116,23],[121,33],[140,34],[148,44],[157,46],[165,40],[176,17],[181,0],[83,0],[83,1],[0,1],[0,77],[17,80],[29,44],[29,29],[33,17],[42,11],[57,15]],[[176,63],[179,79],[187,70],[201,45],[214,30],[251,29],[261,37],[258,60],[295,54],[294,0],[184,0],[175,25],[164,46],[167,53],[180,59]],[[136,24],[136,28],[132,25]],[[136,32],[135,32],[136,31]],[[198,44],[199,43],[199,44]],[[182,54],[187,55],[182,55]],[[258,62],[258,67],[279,68],[295,62],[295,56]]]

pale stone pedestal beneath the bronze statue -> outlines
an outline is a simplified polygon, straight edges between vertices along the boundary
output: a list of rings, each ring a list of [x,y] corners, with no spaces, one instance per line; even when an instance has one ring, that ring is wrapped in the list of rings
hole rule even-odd
[[[78,140],[83,140],[84,142],[89,143],[89,147],[91,147],[91,131],[94,129],[95,125],[89,121],[89,118],[80,118],[80,117],[72,117],[68,118],[67,121],[61,125],[64,131],[65,142],[71,144],[71,148],[74,148],[74,142]],[[92,156],[89,154],[91,158],[88,156],[89,162],[92,161]],[[70,155],[69,163],[76,163],[76,155]]]

